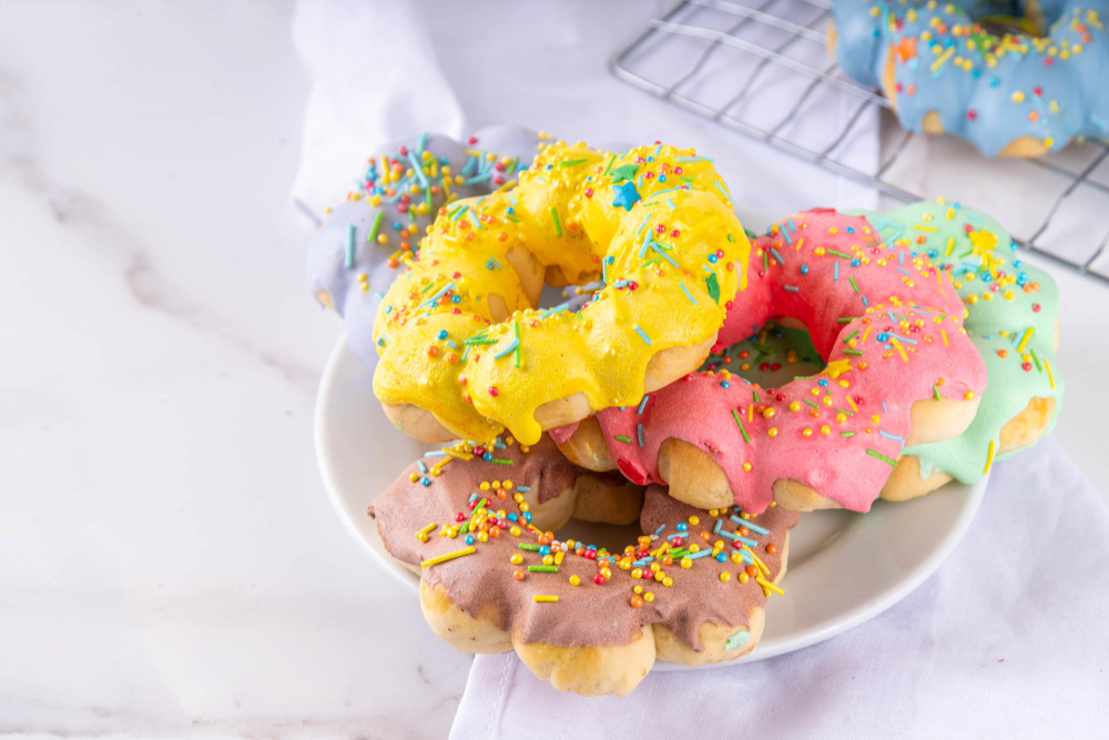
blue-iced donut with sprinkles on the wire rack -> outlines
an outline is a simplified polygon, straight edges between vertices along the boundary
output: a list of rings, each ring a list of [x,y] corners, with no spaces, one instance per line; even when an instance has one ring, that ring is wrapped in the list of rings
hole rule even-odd
[[[881,87],[906,129],[954,133],[987,156],[1038,156],[1109,135],[1107,9],[836,0],[828,43],[848,77]]]

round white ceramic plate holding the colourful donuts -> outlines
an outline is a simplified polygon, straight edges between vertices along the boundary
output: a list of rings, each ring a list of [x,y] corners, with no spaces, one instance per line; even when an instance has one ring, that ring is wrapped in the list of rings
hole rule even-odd
[[[414,597],[419,576],[389,557],[366,507],[423,452],[423,445],[398,432],[386,418],[374,397],[369,372],[347,348],[346,339],[340,339],[324,371],[316,399],[319,469],[332,504],[347,528]],[[947,558],[978,510],[985,489],[985,480],[975,486],[948,484],[905,504],[878,501],[866,515],[803,515],[790,536],[785,596],[767,600],[762,641],[739,661],[708,663],[703,668],[791,652],[882,614]],[[568,526],[560,536],[589,541],[589,530],[588,525],[576,529]],[[686,668],[681,663],[655,663],[655,670]]]

